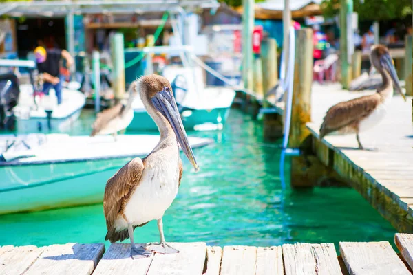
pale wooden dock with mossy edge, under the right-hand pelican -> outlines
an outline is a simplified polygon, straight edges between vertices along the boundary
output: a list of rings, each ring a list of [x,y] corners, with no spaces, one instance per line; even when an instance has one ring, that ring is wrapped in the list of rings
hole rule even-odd
[[[367,150],[357,149],[355,135],[319,140],[319,126],[332,105],[375,91],[351,92],[340,84],[313,84],[311,122],[313,153],[357,190],[399,232],[413,232],[413,127],[411,97],[394,96],[389,113],[374,129],[360,134]],[[284,105],[275,105],[282,115]]]

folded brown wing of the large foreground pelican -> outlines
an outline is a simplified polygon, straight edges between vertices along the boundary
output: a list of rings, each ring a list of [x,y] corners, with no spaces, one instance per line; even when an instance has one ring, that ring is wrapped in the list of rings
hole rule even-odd
[[[118,240],[123,241],[123,239],[127,238],[127,230],[125,232],[116,232],[114,223],[118,219],[118,215],[123,207],[125,207],[129,197],[139,185],[143,169],[142,159],[136,157],[107,180],[103,197],[103,212],[105,213],[107,228],[105,240],[109,239],[114,242]]]

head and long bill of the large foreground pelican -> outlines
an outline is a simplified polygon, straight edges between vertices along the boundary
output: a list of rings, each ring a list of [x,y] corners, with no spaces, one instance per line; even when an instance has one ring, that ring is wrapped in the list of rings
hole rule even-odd
[[[189,145],[187,133],[182,124],[175,98],[173,98],[171,83],[163,76],[149,74],[148,76],[139,78],[137,87],[142,103],[145,105],[145,109],[147,109],[149,115],[155,120],[156,124],[158,124],[156,117],[160,117],[169,122],[182,151],[184,151],[189,162],[191,162],[195,171],[197,171],[199,166],[196,163],[192,148]],[[160,127],[159,124],[158,128],[161,135],[164,134],[162,131],[169,131],[169,129]]]

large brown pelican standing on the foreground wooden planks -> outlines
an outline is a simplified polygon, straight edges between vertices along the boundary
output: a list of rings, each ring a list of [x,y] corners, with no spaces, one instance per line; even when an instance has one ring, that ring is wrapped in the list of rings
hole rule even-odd
[[[103,198],[107,234],[111,242],[131,239],[132,258],[147,256],[145,251],[176,253],[165,243],[162,217],[171,206],[180,186],[182,160],[178,143],[198,170],[169,81],[151,74],[138,79],[137,89],[145,109],[158,125],[160,141],[144,159],[132,159],[106,184]],[[134,229],[158,220],[160,243],[140,246],[134,243]]]

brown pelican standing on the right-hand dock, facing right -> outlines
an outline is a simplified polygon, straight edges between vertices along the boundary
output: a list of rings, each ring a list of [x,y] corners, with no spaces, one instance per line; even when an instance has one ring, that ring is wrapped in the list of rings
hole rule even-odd
[[[330,133],[339,135],[355,133],[359,149],[363,149],[359,133],[376,126],[383,120],[393,97],[393,85],[406,100],[387,47],[383,45],[372,46],[370,61],[377,72],[381,74],[382,85],[372,95],[339,102],[330,107],[320,127],[320,140]]]

